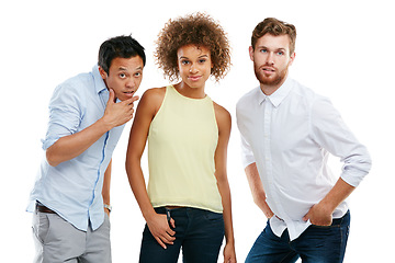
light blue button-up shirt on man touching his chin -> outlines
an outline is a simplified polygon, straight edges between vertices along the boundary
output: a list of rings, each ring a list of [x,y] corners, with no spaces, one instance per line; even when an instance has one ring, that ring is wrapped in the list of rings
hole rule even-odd
[[[109,90],[98,66],[58,85],[49,103],[43,149],[95,123],[103,116],[108,100]],[[87,231],[89,222],[98,229],[104,220],[103,176],[123,128],[111,129],[83,153],[57,167],[50,167],[44,158],[27,210],[34,211],[38,201],[80,230]]]

